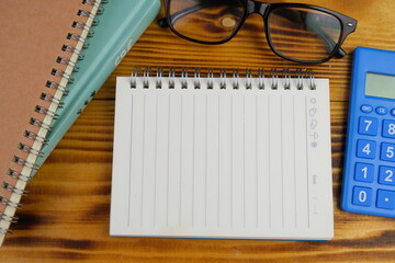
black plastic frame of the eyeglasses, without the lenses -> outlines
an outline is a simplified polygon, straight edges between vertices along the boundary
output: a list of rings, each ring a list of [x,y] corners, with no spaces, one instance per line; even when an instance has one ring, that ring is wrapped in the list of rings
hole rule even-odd
[[[270,47],[270,49],[278,55],[279,57],[282,57],[284,59],[294,61],[294,62],[301,62],[301,64],[320,64],[320,62],[325,62],[328,61],[329,59],[331,59],[332,57],[336,58],[342,58],[347,55],[347,53],[340,47],[345,39],[347,38],[347,36],[349,34],[351,34],[352,32],[356,31],[357,28],[357,23],[358,21],[347,16],[345,14],[338,13],[336,11],[326,9],[326,8],[321,8],[318,5],[313,5],[313,4],[305,4],[305,3],[264,3],[264,2],[258,2],[255,0],[244,0],[244,14],[240,19],[240,21],[237,24],[236,30],[232,33],[232,35],[229,35],[227,38],[218,41],[218,42],[204,42],[204,41],[199,41],[199,39],[194,39],[188,36],[184,36],[182,34],[180,34],[172,25],[171,23],[171,14],[170,14],[170,9],[169,9],[169,2],[171,0],[165,0],[165,10],[166,10],[166,18],[160,19],[159,25],[162,27],[170,27],[170,30],[178,35],[181,38],[184,38],[187,41],[190,42],[194,42],[194,43],[200,43],[200,44],[206,44],[206,45],[218,45],[218,44],[224,44],[226,42],[229,42],[237,33],[238,31],[241,28],[241,26],[244,25],[244,23],[246,22],[247,18],[252,14],[252,13],[257,13],[260,14],[263,18],[263,27],[264,27],[264,34],[267,37],[267,42],[268,45]],[[275,48],[272,45],[272,41],[271,41],[271,36],[270,36],[270,32],[269,32],[269,14],[279,8],[301,8],[301,9],[311,9],[311,10],[315,10],[315,11],[319,11],[323,13],[327,13],[330,14],[335,18],[337,18],[340,21],[341,24],[341,33],[339,36],[338,42],[336,43],[336,46],[334,47],[332,52],[324,59],[321,60],[315,60],[315,61],[311,61],[311,60],[300,60],[300,59],[294,59],[292,57],[286,57],[284,55],[282,55],[281,53],[279,53],[278,50],[275,50]],[[193,12],[194,10],[192,10]],[[188,11],[187,11],[188,12]],[[188,12],[190,13],[190,12]],[[183,12],[178,13],[177,15],[182,16]],[[332,39],[330,39],[332,41]]]

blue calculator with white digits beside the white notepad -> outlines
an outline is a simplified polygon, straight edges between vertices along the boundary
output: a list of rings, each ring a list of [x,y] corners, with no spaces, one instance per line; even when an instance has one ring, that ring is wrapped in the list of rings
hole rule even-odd
[[[395,217],[395,52],[354,52],[341,207]]]

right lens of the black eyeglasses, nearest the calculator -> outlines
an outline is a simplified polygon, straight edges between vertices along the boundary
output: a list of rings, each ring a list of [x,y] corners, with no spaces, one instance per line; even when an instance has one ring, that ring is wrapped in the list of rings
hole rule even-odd
[[[341,22],[331,14],[304,8],[278,8],[268,18],[272,48],[283,57],[319,61],[339,43]]]

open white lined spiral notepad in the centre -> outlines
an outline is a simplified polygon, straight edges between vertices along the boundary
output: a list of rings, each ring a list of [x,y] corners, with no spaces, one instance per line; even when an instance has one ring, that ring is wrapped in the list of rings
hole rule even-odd
[[[110,233],[331,239],[329,81],[284,72],[117,78]]]

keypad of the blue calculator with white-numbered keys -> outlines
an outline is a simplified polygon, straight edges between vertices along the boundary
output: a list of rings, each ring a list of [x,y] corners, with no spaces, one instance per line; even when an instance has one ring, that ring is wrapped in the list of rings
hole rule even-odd
[[[360,105],[356,129],[351,204],[395,217],[395,108]]]

